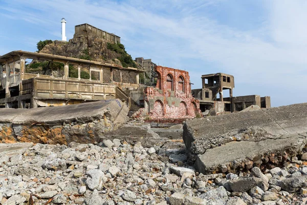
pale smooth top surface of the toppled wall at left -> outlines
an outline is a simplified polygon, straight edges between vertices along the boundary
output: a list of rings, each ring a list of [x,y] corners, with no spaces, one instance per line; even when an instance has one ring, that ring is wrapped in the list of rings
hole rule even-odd
[[[58,107],[41,107],[33,109],[0,109],[0,122],[12,122],[13,124],[26,124],[41,122],[45,125],[61,125],[63,122],[70,123],[78,121],[87,123],[102,119],[107,113],[112,120],[125,122],[126,119],[119,119],[120,116],[127,116],[128,108],[119,99],[95,101],[75,105]]]

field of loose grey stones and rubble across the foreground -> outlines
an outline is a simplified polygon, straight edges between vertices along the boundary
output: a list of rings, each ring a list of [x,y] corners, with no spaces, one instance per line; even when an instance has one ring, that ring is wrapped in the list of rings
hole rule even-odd
[[[133,146],[119,139],[68,146],[0,144],[0,202],[282,205],[307,201],[307,161],[293,158],[281,168],[263,172],[254,167],[239,174],[204,175],[187,161],[171,161],[170,153],[182,154],[181,150],[179,142],[145,148],[140,142]]]

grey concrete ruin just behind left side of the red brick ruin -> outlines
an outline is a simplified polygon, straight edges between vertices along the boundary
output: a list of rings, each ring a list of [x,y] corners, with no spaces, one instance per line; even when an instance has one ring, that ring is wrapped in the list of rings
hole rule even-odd
[[[148,86],[155,86],[155,67],[157,65],[153,63],[151,59],[144,59],[143,57],[137,57],[135,61],[145,70],[145,72],[143,73],[144,80],[140,83],[143,83]]]

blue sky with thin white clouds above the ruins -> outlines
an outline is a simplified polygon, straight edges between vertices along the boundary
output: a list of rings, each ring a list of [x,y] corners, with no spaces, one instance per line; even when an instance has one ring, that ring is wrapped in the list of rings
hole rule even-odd
[[[121,37],[134,58],[201,75],[234,75],[233,96],[271,96],[272,107],[307,102],[305,0],[0,0],[0,55],[36,51],[90,24]],[[227,94],[224,93],[227,97]]]

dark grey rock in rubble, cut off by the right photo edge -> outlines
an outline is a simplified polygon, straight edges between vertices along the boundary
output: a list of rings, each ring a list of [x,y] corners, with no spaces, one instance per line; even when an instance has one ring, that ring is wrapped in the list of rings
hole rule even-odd
[[[280,182],[280,187],[282,190],[287,191],[289,193],[296,192],[300,188],[307,187],[307,176],[304,175],[283,179]]]

